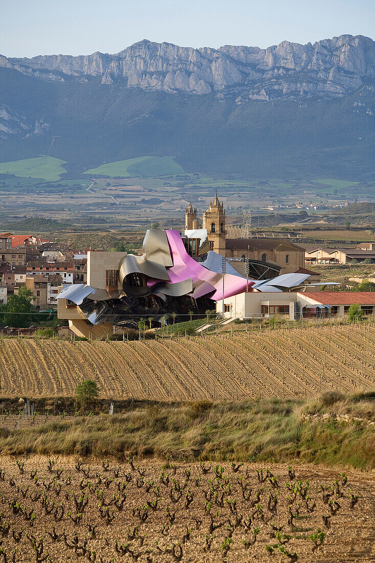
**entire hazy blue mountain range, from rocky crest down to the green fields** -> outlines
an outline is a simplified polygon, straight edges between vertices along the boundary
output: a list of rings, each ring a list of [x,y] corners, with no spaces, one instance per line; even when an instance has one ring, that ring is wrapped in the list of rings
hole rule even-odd
[[[48,154],[73,173],[177,155],[212,175],[368,180],[374,77],[374,42],[351,35],[266,50],[142,41],[117,55],[0,57],[0,160]]]

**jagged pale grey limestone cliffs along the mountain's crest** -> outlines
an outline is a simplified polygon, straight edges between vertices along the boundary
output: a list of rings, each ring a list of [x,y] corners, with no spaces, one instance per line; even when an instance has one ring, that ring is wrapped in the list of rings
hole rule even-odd
[[[343,97],[374,81],[375,42],[362,35],[341,35],[313,45],[283,41],[266,49],[233,45],[193,49],[144,40],[117,55],[0,56],[0,66],[46,81],[92,76],[101,77],[103,85],[144,90],[234,92],[240,104],[247,99]]]

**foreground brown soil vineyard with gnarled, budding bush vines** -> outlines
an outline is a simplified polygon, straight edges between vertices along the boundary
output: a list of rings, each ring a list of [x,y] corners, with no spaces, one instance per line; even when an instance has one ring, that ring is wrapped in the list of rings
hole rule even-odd
[[[3,457],[4,561],[375,561],[375,476]]]

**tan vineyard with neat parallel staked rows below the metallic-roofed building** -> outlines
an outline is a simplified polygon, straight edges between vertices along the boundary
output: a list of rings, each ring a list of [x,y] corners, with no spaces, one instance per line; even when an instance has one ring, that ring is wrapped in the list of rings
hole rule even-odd
[[[362,391],[375,386],[374,345],[372,324],[128,342],[3,337],[1,394],[71,397],[88,378],[101,397],[164,401]]]

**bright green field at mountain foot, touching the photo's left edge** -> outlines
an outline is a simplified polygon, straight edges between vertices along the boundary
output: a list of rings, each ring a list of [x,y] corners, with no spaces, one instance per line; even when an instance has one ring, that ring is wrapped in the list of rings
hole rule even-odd
[[[65,160],[53,157],[26,158],[0,163],[0,174],[14,174],[20,178],[43,178],[48,182],[60,180],[66,172]]]

